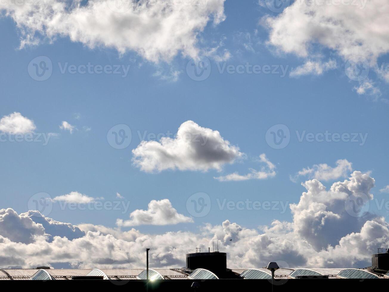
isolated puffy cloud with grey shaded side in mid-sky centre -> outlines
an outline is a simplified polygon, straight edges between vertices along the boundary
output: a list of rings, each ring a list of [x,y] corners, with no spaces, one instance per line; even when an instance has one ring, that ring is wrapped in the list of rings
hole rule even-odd
[[[243,156],[219,131],[200,127],[193,121],[182,123],[174,138],[142,141],[132,153],[135,166],[146,172],[221,170],[224,164]]]

